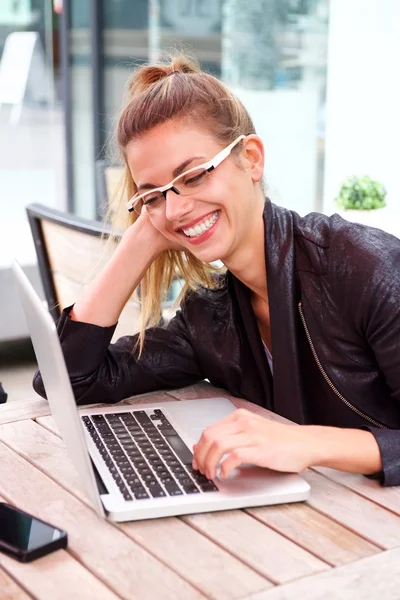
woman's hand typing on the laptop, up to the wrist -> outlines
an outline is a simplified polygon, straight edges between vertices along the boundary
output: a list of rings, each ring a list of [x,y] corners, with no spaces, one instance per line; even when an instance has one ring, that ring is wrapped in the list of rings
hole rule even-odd
[[[297,473],[312,464],[314,445],[310,428],[276,423],[241,408],[205,429],[193,448],[193,467],[213,479],[227,455],[221,477],[245,463]]]

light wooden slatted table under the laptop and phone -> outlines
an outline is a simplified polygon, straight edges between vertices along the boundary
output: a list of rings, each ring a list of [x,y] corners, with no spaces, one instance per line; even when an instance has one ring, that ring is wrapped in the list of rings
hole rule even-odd
[[[202,383],[137,401],[215,395],[231,398]],[[0,555],[1,600],[400,597],[400,489],[318,468],[304,503],[113,524],[90,508],[37,398],[0,408],[0,496],[65,529],[69,546],[25,565]]]

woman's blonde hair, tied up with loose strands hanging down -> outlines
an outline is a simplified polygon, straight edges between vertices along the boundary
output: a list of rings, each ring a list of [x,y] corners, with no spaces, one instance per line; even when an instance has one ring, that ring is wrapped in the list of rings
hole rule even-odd
[[[113,215],[113,225],[119,230],[126,229],[138,218],[135,212],[128,213],[125,206],[136,193],[135,182],[126,165],[126,147],[132,139],[171,119],[198,123],[224,145],[241,134],[255,133],[252,120],[238,98],[217,78],[201,71],[196,60],[178,54],[160,63],[140,67],[129,81],[128,103],[117,127],[125,173],[117,207],[111,205],[109,214]],[[217,275],[221,270],[224,269],[202,262],[185,250],[168,250],[158,256],[140,285],[139,356],[146,328],[160,321],[161,305],[173,279],[180,278],[184,282],[178,304],[190,290],[218,287],[220,278]]]

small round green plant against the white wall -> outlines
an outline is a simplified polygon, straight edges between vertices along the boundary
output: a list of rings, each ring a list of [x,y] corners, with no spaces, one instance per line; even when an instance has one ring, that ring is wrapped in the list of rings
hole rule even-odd
[[[344,210],[374,210],[386,206],[385,198],[385,187],[365,175],[346,179],[335,202]]]

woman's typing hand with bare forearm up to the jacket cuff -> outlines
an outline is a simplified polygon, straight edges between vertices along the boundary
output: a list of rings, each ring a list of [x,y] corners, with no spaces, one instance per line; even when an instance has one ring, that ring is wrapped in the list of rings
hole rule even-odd
[[[382,469],[374,435],[360,429],[319,425],[286,425],[240,408],[207,427],[193,447],[193,468],[220,477],[242,464],[298,473],[321,466],[370,475]]]

